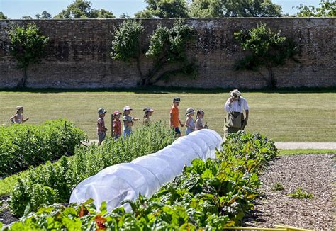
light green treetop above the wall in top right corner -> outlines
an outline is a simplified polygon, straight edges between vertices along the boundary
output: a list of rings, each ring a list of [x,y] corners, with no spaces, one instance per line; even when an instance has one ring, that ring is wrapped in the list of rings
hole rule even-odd
[[[320,7],[315,6],[296,6],[298,17],[335,17],[336,16],[336,1],[321,0]]]

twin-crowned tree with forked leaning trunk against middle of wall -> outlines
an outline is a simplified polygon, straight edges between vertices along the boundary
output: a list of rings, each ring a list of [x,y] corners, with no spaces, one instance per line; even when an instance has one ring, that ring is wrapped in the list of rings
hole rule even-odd
[[[113,60],[137,62],[140,86],[155,84],[160,79],[169,79],[178,73],[196,75],[194,62],[186,57],[186,45],[195,35],[193,27],[184,24],[183,21],[177,21],[171,28],[158,26],[150,35],[149,47],[144,49],[139,43],[139,37],[143,31],[144,28],[140,22],[125,21],[114,34],[111,52]],[[142,50],[147,50],[146,57],[154,61],[152,68],[146,74],[142,73],[140,67]],[[171,68],[163,71],[167,64],[172,64],[169,66]]]

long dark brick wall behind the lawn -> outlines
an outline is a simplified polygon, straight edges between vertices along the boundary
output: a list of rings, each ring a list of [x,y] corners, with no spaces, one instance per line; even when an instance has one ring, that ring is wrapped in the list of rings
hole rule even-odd
[[[43,34],[50,37],[41,64],[28,68],[27,86],[31,88],[111,88],[135,87],[139,79],[135,63],[111,60],[113,28],[121,19],[89,20],[0,20],[0,88],[18,85],[23,71],[16,69],[16,61],[9,55],[9,38],[5,28],[10,23],[23,25],[34,22]],[[267,23],[293,38],[299,48],[297,60],[288,61],[274,69],[279,87],[336,86],[335,18],[189,18],[186,22],[197,30],[197,38],[188,47],[189,57],[195,58],[198,77],[177,76],[158,85],[201,88],[244,87],[258,89],[266,86],[258,72],[233,70],[236,60],[243,57],[233,33]],[[143,46],[148,35],[159,23],[172,24],[172,19],[144,19]],[[152,62],[141,59],[142,72]],[[266,70],[262,74],[267,75]]]

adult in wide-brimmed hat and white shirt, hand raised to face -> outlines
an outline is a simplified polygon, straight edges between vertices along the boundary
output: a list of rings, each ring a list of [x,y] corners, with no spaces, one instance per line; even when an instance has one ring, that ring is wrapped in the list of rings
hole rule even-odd
[[[238,89],[233,89],[229,93],[230,98],[225,103],[224,110],[226,117],[224,120],[224,140],[230,133],[237,133],[244,130],[249,118],[249,106],[245,98]],[[245,113],[245,115],[244,115]]]

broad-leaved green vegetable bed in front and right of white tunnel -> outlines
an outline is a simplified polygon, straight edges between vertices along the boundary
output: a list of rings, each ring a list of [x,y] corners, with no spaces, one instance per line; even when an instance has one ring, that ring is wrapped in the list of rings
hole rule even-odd
[[[40,208],[5,230],[223,230],[240,225],[250,210],[260,184],[257,174],[276,156],[274,143],[262,135],[230,135],[218,159],[194,159],[183,174],[163,186],[152,198],[125,201],[123,208],[100,212],[92,201],[69,207]]]

